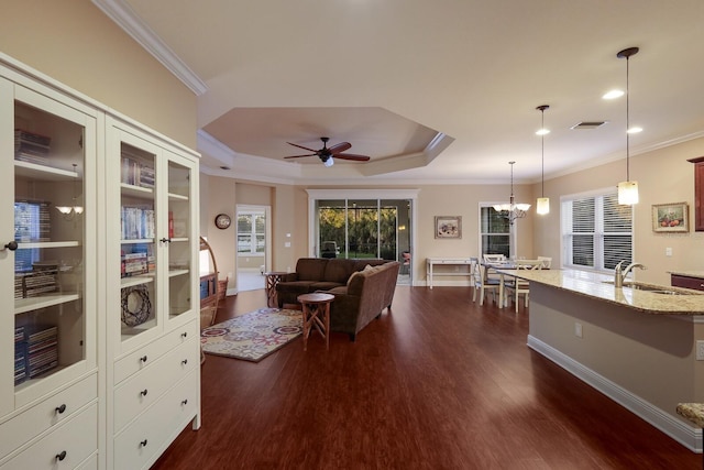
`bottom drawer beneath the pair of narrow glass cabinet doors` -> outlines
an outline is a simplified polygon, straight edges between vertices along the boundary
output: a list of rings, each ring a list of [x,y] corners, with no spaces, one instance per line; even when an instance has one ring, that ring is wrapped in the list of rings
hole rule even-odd
[[[148,468],[198,413],[197,371],[169,390],[114,439],[114,468]]]

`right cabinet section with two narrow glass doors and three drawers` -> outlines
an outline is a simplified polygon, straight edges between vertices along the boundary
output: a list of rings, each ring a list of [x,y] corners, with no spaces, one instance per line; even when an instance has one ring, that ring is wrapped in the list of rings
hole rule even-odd
[[[107,124],[108,449],[116,469],[139,469],[199,426],[198,162]]]

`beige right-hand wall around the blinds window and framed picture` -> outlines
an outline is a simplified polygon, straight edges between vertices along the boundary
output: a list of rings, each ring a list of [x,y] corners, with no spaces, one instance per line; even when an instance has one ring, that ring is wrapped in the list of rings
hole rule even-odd
[[[688,233],[659,233],[652,231],[653,204],[688,203],[690,218],[694,214],[694,165],[688,159],[704,155],[704,139],[696,139],[666,149],[632,156],[631,179],[638,181],[640,203],[634,215],[635,260],[648,266],[637,271],[639,281],[670,284],[668,271],[704,269],[704,232],[691,228]],[[578,194],[598,188],[615,187],[626,178],[625,161],[601,165],[572,175],[546,182],[546,195],[550,197],[550,215],[534,216],[534,252],[546,253],[560,260],[560,195]],[[540,186],[536,185],[536,192]],[[672,248],[672,256],[666,256],[666,248]]]

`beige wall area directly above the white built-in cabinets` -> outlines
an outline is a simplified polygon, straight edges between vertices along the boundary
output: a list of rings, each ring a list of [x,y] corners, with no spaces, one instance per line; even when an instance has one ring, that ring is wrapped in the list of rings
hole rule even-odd
[[[3,1],[0,11],[0,52],[196,147],[196,96],[90,1]]]

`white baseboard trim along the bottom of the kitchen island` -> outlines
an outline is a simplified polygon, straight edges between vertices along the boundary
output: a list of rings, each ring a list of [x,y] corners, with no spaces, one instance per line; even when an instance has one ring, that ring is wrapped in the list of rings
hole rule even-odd
[[[528,335],[528,347],[551,360],[572,375],[598,390],[636,416],[660,429],[693,452],[702,452],[702,429],[688,425],[681,419],[658,408],[651,403],[625,390],[605,376],[584,367],[569,356],[554,349],[536,337]]]

